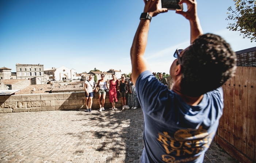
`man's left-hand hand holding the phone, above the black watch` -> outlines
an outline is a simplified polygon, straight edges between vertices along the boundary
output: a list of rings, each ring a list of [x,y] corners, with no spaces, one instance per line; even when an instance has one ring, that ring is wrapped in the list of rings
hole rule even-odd
[[[160,0],[144,0],[144,12],[148,12],[150,16],[156,16],[158,13],[167,12],[167,8],[162,8]]]

